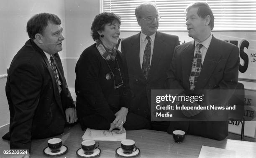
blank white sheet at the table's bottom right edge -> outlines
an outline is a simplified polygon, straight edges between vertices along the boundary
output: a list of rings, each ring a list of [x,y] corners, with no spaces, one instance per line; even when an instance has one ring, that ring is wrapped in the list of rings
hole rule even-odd
[[[236,158],[236,151],[202,145],[198,158]]]

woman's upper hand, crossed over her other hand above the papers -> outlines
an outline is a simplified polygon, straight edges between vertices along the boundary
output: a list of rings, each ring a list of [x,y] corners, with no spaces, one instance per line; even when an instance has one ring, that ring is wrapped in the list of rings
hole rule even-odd
[[[123,127],[123,124],[126,121],[126,115],[128,113],[128,109],[126,107],[121,107],[121,109],[115,113],[115,120],[112,122],[119,129]]]

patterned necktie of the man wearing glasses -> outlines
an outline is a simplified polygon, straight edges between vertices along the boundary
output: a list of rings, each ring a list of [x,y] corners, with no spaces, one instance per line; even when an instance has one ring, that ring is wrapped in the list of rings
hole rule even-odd
[[[146,36],[146,39],[148,40],[148,43],[145,47],[144,55],[143,55],[143,62],[142,62],[142,71],[143,75],[145,78],[148,78],[148,71],[149,71],[149,66],[150,66],[150,54],[151,54],[151,42],[150,42],[150,37]]]

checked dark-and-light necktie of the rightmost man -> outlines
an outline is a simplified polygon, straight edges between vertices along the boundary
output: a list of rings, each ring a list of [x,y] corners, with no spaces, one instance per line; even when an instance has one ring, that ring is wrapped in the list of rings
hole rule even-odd
[[[197,81],[202,69],[202,53],[200,51],[202,46],[203,45],[201,43],[198,43],[196,46],[197,51],[195,53],[195,57],[192,62],[191,74],[189,76],[190,90],[195,89],[195,86],[197,84]]]

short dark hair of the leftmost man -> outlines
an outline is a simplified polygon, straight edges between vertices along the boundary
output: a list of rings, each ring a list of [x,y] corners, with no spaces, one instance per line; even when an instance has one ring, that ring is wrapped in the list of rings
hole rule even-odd
[[[60,25],[61,20],[57,15],[50,13],[39,13],[30,18],[27,23],[27,32],[29,38],[35,39],[36,33],[43,34],[48,23]]]

